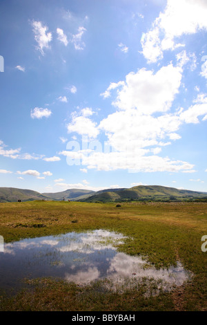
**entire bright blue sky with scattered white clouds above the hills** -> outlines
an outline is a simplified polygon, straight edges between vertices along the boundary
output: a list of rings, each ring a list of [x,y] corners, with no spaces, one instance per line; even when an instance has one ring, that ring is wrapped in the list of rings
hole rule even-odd
[[[207,192],[206,0],[1,0],[0,187]]]

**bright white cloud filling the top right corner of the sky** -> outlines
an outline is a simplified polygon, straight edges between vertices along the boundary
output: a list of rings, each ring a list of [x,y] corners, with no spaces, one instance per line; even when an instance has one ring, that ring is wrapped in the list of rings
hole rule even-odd
[[[142,35],[141,46],[148,63],[162,59],[164,50],[184,44],[175,43],[181,35],[207,30],[207,3],[204,0],[168,0],[152,28]]]

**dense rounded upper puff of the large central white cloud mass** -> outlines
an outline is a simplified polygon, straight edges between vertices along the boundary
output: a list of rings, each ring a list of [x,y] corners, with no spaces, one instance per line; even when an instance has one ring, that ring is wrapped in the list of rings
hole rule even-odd
[[[163,66],[157,73],[141,68],[137,73],[128,73],[126,82],[110,84],[107,92],[122,87],[117,91],[117,100],[113,102],[119,109],[136,107],[142,114],[168,111],[179,92],[181,76],[181,69],[172,64]],[[104,94],[103,97],[107,97],[106,92]]]

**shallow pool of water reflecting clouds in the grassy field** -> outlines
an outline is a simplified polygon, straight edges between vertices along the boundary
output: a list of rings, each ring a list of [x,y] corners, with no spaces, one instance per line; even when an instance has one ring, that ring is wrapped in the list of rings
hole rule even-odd
[[[24,278],[37,277],[59,277],[80,285],[109,279],[116,286],[147,277],[163,282],[166,290],[188,280],[189,273],[180,263],[156,270],[141,257],[117,252],[115,246],[124,239],[122,234],[95,230],[6,243],[0,252],[0,288],[16,292]]]

